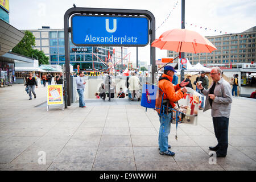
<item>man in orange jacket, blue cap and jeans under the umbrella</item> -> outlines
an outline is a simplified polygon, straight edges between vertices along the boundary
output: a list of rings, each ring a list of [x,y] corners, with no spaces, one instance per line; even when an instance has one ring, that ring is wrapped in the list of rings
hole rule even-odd
[[[181,89],[185,85],[188,85],[189,82],[182,81],[180,84],[174,86],[172,84],[172,77],[174,76],[175,69],[172,66],[164,67],[164,74],[159,78],[158,87],[163,91],[164,97],[163,100],[167,100],[169,102],[169,107],[175,107],[174,102],[179,101],[184,93],[187,92],[186,88]],[[162,104],[162,94],[158,94],[159,98],[156,98],[156,111],[158,111],[159,120],[160,120],[160,129],[159,129],[159,154],[161,155],[169,155],[174,156],[175,153],[168,150],[171,146],[168,146],[168,135],[170,134],[171,122],[172,122],[172,111],[167,113],[165,109],[162,113],[160,111],[159,106]],[[161,98],[160,98],[161,97]],[[167,104],[167,105],[169,105]]]

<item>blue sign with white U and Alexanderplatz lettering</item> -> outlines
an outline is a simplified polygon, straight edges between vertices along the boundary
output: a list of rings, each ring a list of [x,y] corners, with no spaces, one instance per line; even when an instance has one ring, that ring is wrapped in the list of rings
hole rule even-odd
[[[148,18],[73,15],[71,40],[76,46],[146,46]]]

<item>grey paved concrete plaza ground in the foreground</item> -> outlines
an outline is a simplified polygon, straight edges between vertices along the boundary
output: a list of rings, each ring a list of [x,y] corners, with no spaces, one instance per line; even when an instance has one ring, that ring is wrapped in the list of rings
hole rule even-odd
[[[255,170],[256,102],[234,97],[226,158],[209,164],[217,144],[210,111],[199,111],[198,125],[171,126],[174,157],[159,155],[159,118],[138,101],[85,101],[68,109],[50,107],[46,88],[28,100],[24,85],[0,88],[1,170]],[[37,106],[37,107],[35,107]],[[39,151],[46,164],[39,164]],[[38,155],[39,154],[39,155]],[[40,161],[39,161],[40,162]]]

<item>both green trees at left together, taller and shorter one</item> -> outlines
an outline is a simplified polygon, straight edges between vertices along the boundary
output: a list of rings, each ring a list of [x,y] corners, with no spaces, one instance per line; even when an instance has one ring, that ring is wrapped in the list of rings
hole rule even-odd
[[[39,65],[49,64],[49,57],[43,51],[32,48],[32,46],[35,46],[35,36],[30,31],[25,31],[24,34],[23,39],[13,48],[12,52],[28,57],[33,56],[38,59]]]

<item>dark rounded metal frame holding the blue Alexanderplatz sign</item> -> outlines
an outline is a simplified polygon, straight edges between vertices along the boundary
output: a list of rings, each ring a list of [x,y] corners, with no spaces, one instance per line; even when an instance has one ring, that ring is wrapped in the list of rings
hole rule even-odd
[[[100,15],[109,16],[117,15],[120,17],[127,16],[146,16],[150,20],[149,35],[150,35],[150,64],[152,65],[152,84],[154,84],[154,74],[155,74],[155,47],[151,47],[152,42],[155,40],[155,16],[147,10],[131,10],[131,9],[100,9],[100,8],[86,8],[86,7],[72,7],[68,9],[64,15],[64,42],[65,42],[65,96],[67,96],[67,102],[65,102],[65,108],[71,105],[71,78],[69,71],[69,32],[71,32],[71,27],[69,27],[69,19],[74,14],[80,15]],[[100,45],[101,46],[101,45]],[[108,45],[115,47],[115,45]],[[125,46],[125,45],[122,45]],[[118,47],[118,46],[116,46]],[[137,46],[134,46],[137,47]]]

